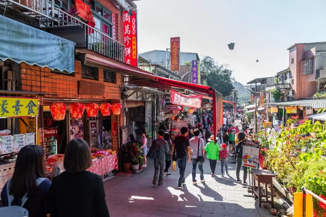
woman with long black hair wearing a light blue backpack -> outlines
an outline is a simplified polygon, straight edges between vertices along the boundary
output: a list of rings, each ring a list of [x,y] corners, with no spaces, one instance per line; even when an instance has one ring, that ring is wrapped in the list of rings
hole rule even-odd
[[[26,145],[19,151],[14,174],[1,192],[4,207],[22,206],[30,217],[50,217],[48,193],[51,181],[45,178],[43,148]]]

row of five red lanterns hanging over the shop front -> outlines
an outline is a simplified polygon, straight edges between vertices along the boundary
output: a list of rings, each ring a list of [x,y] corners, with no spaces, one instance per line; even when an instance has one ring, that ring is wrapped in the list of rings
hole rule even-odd
[[[53,120],[55,121],[64,120],[66,117],[66,108],[67,106],[62,102],[55,102],[52,105],[50,105],[50,112]],[[73,102],[70,105],[68,105],[68,108],[69,108],[71,118],[82,118],[85,109],[88,117],[96,117],[98,110],[101,111],[101,114],[103,116],[109,116],[111,113],[111,109],[113,115],[120,115],[122,104],[113,103],[111,105],[110,103],[106,102],[106,103],[102,103],[101,105],[98,105],[97,103],[92,102],[83,105],[80,102]]]

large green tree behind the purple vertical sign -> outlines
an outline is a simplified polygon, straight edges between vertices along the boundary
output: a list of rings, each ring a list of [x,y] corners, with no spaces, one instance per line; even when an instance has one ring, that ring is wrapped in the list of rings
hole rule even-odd
[[[204,56],[200,60],[200,71],[206,73],[205,85],[214,88],[223,96],[232,93],[234,78],[233,71],[228,68],[228,65],[220,65],[213,57]]]

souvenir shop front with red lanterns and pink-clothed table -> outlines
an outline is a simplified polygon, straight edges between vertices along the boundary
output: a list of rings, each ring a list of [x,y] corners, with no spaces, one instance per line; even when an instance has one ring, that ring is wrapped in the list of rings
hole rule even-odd
[[[46,106],[44,108],[47,110]],[[43,114],[45,128],[39,129],[47,156],[47,175],[55,176],[64,170],[65,147],[76,138],[90,145],[93,165],[89,171],[105,178],[112,170],[118,170],[118,157],[112,150],[112,137],[117,137],[117,127],[115,122],[111,123],[111,118],[120,115],[121,103],[72,102],[67,106],[63,102],[54,102],[48,108],[50,111]]]

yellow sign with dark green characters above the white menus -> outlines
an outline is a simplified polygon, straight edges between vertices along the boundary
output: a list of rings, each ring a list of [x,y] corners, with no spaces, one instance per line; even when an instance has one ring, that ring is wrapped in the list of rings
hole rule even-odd
[[[30,117],[37,112],[37,98],[0,97],[0,117]]]

